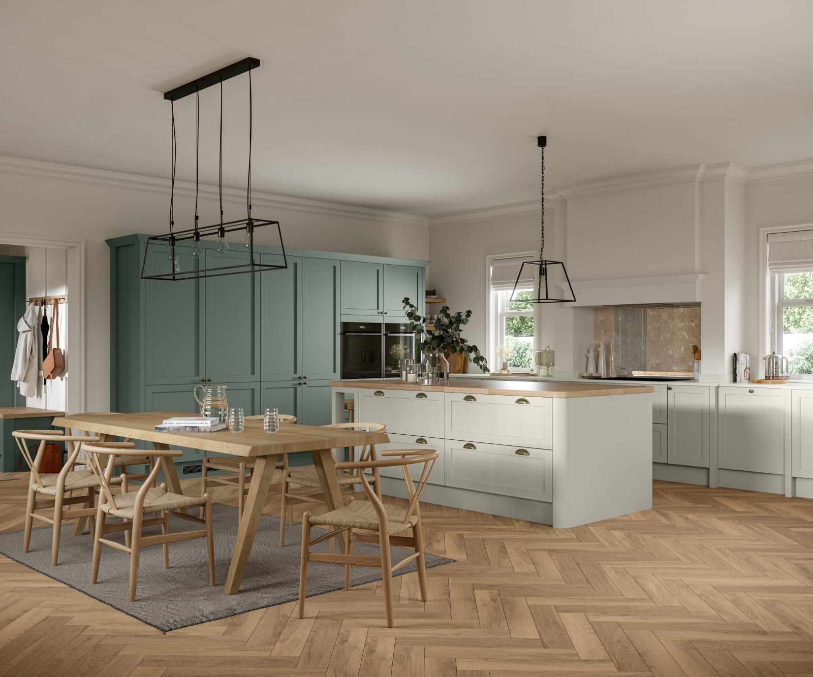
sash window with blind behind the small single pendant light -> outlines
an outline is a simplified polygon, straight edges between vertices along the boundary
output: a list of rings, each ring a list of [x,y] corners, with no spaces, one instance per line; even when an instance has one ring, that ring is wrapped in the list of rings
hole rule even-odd
[[[537,315],[536,304],[526,299],[533,298],[533,278],[520,280],[511,301],[517,276],[522,270],[522,262],[533,258],[533,253],[514,254],[506,257],[489,257],[489,341],[487,355],[492,371],[502,366],[498,348],[506,347],[506,362],[511,371],[524,373],[536,370],[534,351],[536,350]],[[525,267],[524,272],[528,272]]]

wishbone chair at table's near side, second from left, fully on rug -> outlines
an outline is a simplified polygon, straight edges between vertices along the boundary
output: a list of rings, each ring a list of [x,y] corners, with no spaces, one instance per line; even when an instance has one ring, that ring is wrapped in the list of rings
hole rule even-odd
[[[129,443],[130,449],[116,449],[115,454],[122,457],[137,457],[144,454],[141,449],[132,449],[133,443]],[[96,515],[96,529],[93,532],[93,567],[91,569],[90,580],[95,584],[98,580],[99,564],[102,559],[102,544],[111,548],[124,550],[130,555],[130,601],[136,601],[136,587],[138,582],[138,561],[141,557],[141,548],[149,545],[163,545],[163,568],[169,568],[169,544],[193,538],[206,538],[209,551],[209,584],[215,585],[215,540],[212,532],[211,517],[211,497],[208,493],[203,496],[184,496],[177,493],[167,492],[167,485],[155,486],[155,478],[163,467],[164,459],[167,457],[183,456],[180,450],[159,450],[148,452],[150,457],[155,458],[155,462],[150,471],[150,475],[141,484],[137,491],[115,494],[111,490],[113,477],[113,463],[115,457],[110,453],[110,449],[98,444],[83,444],[82,449],[87,454],[89,466],[96,479],[102,485],[102,497],[100,499],[98,512]],[[169,462],[172,462],[171,460]],[[202,506],[204,517],[197,518],[190,514],[185,514],[179,510],[192,506]],[[160,513],[160,517],[145,519],[145,514]],[[169,517],[174,515],[180,519],[190,522],[200,523],[204,528],[193,532],[169,532]],[[122,522],[107,523],[107,515],[118,517]],[[161,525],[161,533],[154,536],[143,536],[141,529],[154,524]],[[118,541],[107,540],[107,534],[115,532],[132,531],[130,544],[121,545]]]

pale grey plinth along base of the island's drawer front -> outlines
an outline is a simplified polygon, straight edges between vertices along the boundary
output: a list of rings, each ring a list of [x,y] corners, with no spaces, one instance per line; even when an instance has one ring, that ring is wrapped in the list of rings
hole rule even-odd
[[[382,477],[381,493],[406,498],[406,484],[404,484],[404,480]],[[528,522],[541,524],[553,523],[553,506],[544,501],[528,501],[527,498],[501,496],[496,493],[476,492],[456,487],[442,487],[437,484],[427,484],[420,499],[438,506],[498,514],[502,517],[526,519]]]

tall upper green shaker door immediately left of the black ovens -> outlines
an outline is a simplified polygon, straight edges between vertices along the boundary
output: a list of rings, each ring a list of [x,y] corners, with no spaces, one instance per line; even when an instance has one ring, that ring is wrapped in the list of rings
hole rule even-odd
[[[299,373],[311,381],[337,379],[341,372],[341,279],[341,262],[302,258],[302,371]]]

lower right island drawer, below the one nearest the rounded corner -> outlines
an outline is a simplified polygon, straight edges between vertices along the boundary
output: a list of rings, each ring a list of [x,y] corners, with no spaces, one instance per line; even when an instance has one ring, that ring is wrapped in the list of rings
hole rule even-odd
[[[552,452],[446,440],[446,486],[552,501]]]

